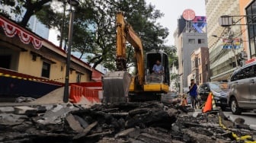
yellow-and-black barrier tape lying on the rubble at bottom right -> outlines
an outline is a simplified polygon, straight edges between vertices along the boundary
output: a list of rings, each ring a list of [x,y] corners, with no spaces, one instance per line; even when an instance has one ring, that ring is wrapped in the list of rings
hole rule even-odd
[[[219,126],[222,129],[225,129],[227,131],[230,131],[230,129],[228,129],[226,126],[224,126],[222,124],[222,117],[219,116]],[[230,131],[231,132],[231,131]],[[231,132],[232,133],[232,137],[235,138],[236,141],[244,141],[245,143],[256,143],[256,141],[254,141],[251,137],[251,135],[243,135],[241,137],[238,137],[238,135],[235,134],[235,132]]]

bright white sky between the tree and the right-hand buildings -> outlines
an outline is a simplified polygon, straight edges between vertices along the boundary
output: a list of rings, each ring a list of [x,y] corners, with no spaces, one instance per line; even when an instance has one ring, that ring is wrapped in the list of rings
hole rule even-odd
[[[204,0],[146,0],[147,3],[155,5],[155,8],[165,14],[158,22],[168,27],[168,45],[174,45],[173,33],[177,28],[177,19],[187,8],[193,9],[196,16],[205,16]]]

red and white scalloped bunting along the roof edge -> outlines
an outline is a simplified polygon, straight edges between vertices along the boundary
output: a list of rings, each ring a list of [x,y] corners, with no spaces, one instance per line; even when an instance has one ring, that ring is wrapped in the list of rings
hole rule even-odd
[[[14,37],[16,34],[18,34],[18,37],[20,37],[22,43],[32,43],[35,49],[40,49],[42,47],[42,40],[38,39],[37,37],[33,37],[30,33],[27,33],[21,28],[14,26],[2,17],[0,17],[0,26],[2,26],[7,37]]]

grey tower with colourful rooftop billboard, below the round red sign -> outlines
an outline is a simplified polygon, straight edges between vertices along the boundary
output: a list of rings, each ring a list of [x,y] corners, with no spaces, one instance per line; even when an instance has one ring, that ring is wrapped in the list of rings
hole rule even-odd
[[[207,46],[206,33],[203,31],[206,24],[204,18],[195,17],[194,20],[197,19],[199,21],[185,21],[183,17],[178,19],[178,30],[174,33],[174,40],[178,49],[179,89],[181,93],[188,91],[189,82],[187,81],[187,76],[191,73],[191,52],[198,47]],[[196,27],[197,24],[202,27]]]

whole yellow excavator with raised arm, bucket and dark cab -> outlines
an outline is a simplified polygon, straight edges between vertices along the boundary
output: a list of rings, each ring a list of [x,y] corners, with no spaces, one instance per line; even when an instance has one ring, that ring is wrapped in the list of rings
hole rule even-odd
[[[127,71],[126,41],[134,48],[136,74]],[[103,78],[104,103],[161,100],[161,94],[169,90],[170,74],[168,56],[162,50],[143,53],[142,40],[133,27],[126,22],[123,12],[117,12],[117,71],[110,71]],[[145,56],[145,58],[144,58]],[[153,67],[158,61],[160,73]],[[160,62],[160,65],[159,65]]]

